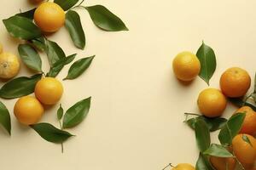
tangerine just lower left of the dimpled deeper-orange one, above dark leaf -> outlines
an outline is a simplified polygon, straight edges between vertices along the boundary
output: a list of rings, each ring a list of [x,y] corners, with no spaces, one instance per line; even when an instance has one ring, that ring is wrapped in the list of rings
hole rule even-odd
[[[204,116],[221,116],[226,108],[227,100],[218,89],[207,88],[201,91],[197,99],[199,110]]]

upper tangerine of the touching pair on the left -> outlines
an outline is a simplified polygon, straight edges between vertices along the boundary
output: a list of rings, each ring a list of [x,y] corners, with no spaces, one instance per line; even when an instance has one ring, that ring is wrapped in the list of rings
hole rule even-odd
[[[45,77],[37,82],[35,94],[44,105],[54,105],[61,99],[63,87],[57,79]]]

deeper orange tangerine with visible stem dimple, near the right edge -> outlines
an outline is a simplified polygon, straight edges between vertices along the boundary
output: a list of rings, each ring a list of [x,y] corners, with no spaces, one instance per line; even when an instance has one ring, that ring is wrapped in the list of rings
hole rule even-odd
[[[251,77],[247,71],[239,67],[231,67],[220,77],[222,93],[230,98],[237,98],[247,94],[251,85]]]

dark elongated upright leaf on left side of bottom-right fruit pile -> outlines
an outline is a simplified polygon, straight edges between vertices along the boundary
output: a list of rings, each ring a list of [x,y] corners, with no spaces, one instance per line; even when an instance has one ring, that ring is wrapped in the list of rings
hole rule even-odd
[[[211,144],[209,128],[202,119],[195,122],[195,139],[200,151],[207,150]]]

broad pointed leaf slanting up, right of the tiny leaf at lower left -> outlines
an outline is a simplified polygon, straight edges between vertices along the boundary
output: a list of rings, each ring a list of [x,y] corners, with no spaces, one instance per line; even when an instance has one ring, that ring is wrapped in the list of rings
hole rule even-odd
[[[90,98],[83,99],[70,107],[63,119],[63,128],[74,127],[82,122],[90,110]]]

